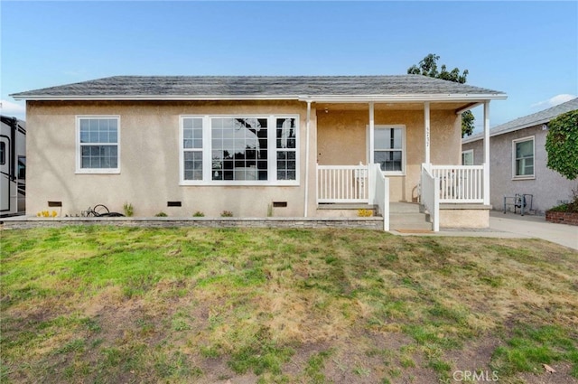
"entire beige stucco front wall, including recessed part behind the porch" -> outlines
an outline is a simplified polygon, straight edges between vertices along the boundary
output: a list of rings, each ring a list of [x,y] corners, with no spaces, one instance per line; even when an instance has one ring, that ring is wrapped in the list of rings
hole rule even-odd
[[[179,117],[181,115],[259,114],[300,116],[300,180],[298,186],[179,185]],[[120,173],[77,174],[76,117],[120,116]],[[300,102],[56,102],[29,101],[27,214],[52,210],[76,215],[98,203],[122,211],[130,202],[136,216],[208,217],[232,211],[235,216],[264,217],[273,201],[286,201],[275,216],[303,216],[306,177],[306,104]],[[459,164],[460,117],[452,110],[431,112],[433,164]],[[390,178],[391,201],[415,201],[420,164],[424,162],[424,111],[376,110],[377,125],[406,126],[406,175]],[[310,122],[309,215],[315,215],[315,163],[367,164],[368,111],[317,113]],[[182,207],[167,207],[182,201]]]

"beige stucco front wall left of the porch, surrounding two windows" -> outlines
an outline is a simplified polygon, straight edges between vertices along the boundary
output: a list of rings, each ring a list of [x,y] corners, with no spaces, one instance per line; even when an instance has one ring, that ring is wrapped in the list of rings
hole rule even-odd
[[[179,117],[184,114],[299,114],[300,185],[180,186]],[[119,174],[75,173],[78,115],[120,116]],[[276,216],[303,216],[303,103],[28,102],[27,117],[29,215],[48,209],[48,201],[61,201],[62,215],[79,214],[98,203],[122,212],[123,203],[130,202],[137,216],[160,211],[169,216],[191,216],[195,211],[219,216],[227,210],[235,216],[263,217],[272,201],[287,201],[286,208],[275,208]],[[311,198],[314,202],[314,191]],[[182,201],[182,207],[167,207],[167,201]]]

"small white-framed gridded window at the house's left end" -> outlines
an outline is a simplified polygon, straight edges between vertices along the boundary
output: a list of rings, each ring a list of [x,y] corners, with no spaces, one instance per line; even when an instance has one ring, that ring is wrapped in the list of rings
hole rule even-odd
[[[78,173],[119,173],[119,117],[78,117]]]

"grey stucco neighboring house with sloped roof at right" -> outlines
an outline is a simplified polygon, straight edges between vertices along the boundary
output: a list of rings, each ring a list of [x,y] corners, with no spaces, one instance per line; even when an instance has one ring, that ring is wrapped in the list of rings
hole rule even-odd
[[[575,109],[578,109],[578,98],[489,131],[490,196],[495,210],[503,209],[504,196],[516,194],[531,194],[532,209],[537,214],[572,199],[577,183],[546,167],[545,138],[550,120]],[[462,139],[463,164],[481,164],[482,138],[480,134]],[[529,202],[528,197],[527,209]]]

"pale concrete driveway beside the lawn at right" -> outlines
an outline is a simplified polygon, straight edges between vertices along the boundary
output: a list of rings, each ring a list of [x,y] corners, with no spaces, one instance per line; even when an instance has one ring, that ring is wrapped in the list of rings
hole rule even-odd
[[[489,211],[489,228],[512,233],[520,238],[545,239],[564,247],[578,249],[578,227],[547,222],[544,216]]]

